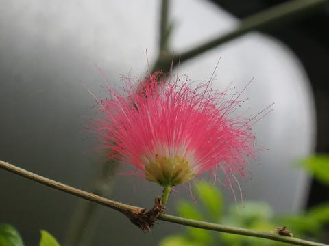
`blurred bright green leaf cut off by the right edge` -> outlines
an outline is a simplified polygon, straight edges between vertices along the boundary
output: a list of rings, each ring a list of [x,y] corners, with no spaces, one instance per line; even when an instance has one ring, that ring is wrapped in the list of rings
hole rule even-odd
[[[317,154],[308,157],[302,161],[302,166],[305,167],[308,172],[313,174],[313,176],[329,185],[329,155],[328,154]]]

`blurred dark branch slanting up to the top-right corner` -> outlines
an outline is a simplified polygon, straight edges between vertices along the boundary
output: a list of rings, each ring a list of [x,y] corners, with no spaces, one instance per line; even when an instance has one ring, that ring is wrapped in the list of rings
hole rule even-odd
[[[162,69],[164,72],[168,72],[172,59],[173,66],[178,65],[178,62],[182,64],[188,59],[194,58],[210,49],[214,49],[220,44],[233,40],[234,38],[238,38],[249,31],[262,31],[265,28],[279,27],[287,21],[291,21],[292,19],[296,20],[296,18],[309,14],[327,3],[329,3],[328,0],[294,0],[253,14],[241,20],[239,26],[226,35],[221,35],[184,53],[176,53],[174,58],[173,54],[169,54],[166,57],[159,56],[154,65],[154,71]]]

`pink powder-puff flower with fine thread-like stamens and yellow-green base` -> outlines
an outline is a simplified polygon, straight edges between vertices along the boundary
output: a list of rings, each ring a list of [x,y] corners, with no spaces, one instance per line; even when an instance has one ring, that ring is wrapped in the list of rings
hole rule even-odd
[[[109,157],[151,182],[175,186],[204,172],[216,178],[217,169],[243,176],[248,156],[255,156],[248,120],[234,114],[241,101],[212,90],[210,82],[191,89],[187,79],[156,72],[143,90],[127,85],[125,96],[109,90],[97,124]]]

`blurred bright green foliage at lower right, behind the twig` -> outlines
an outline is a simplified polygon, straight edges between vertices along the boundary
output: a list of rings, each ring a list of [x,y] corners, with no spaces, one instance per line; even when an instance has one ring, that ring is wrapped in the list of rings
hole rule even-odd
[[[322,182],[329,184],[329,156],[311,156],[303,162],[304,167]],[[239,226],[254,230],[276,230],[287,226],[294,236],[321,241],[324,236],[322,228],[329,223],[329,202],[310,208],[297,215],[273,215],[269,204],[247,201],[244,204],[233,204],[223,213],[224,201],[221,191],[207,182],[198,182],[195,186],[199,204],[186,200],[178,203],[178,215],[190,219],[204,220]],[[287,245],[263,238],[210,232],[197,228],[186,228],[184,234],[168,236],[160,242],[160,246],[210,246],[210,245]]]

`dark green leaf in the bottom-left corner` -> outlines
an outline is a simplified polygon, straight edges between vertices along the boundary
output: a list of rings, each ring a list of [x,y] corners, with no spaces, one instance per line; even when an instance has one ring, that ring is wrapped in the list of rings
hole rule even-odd
[[[0,245],[1,246],[24,246],[19,232],[14,226],[0,224]]]

